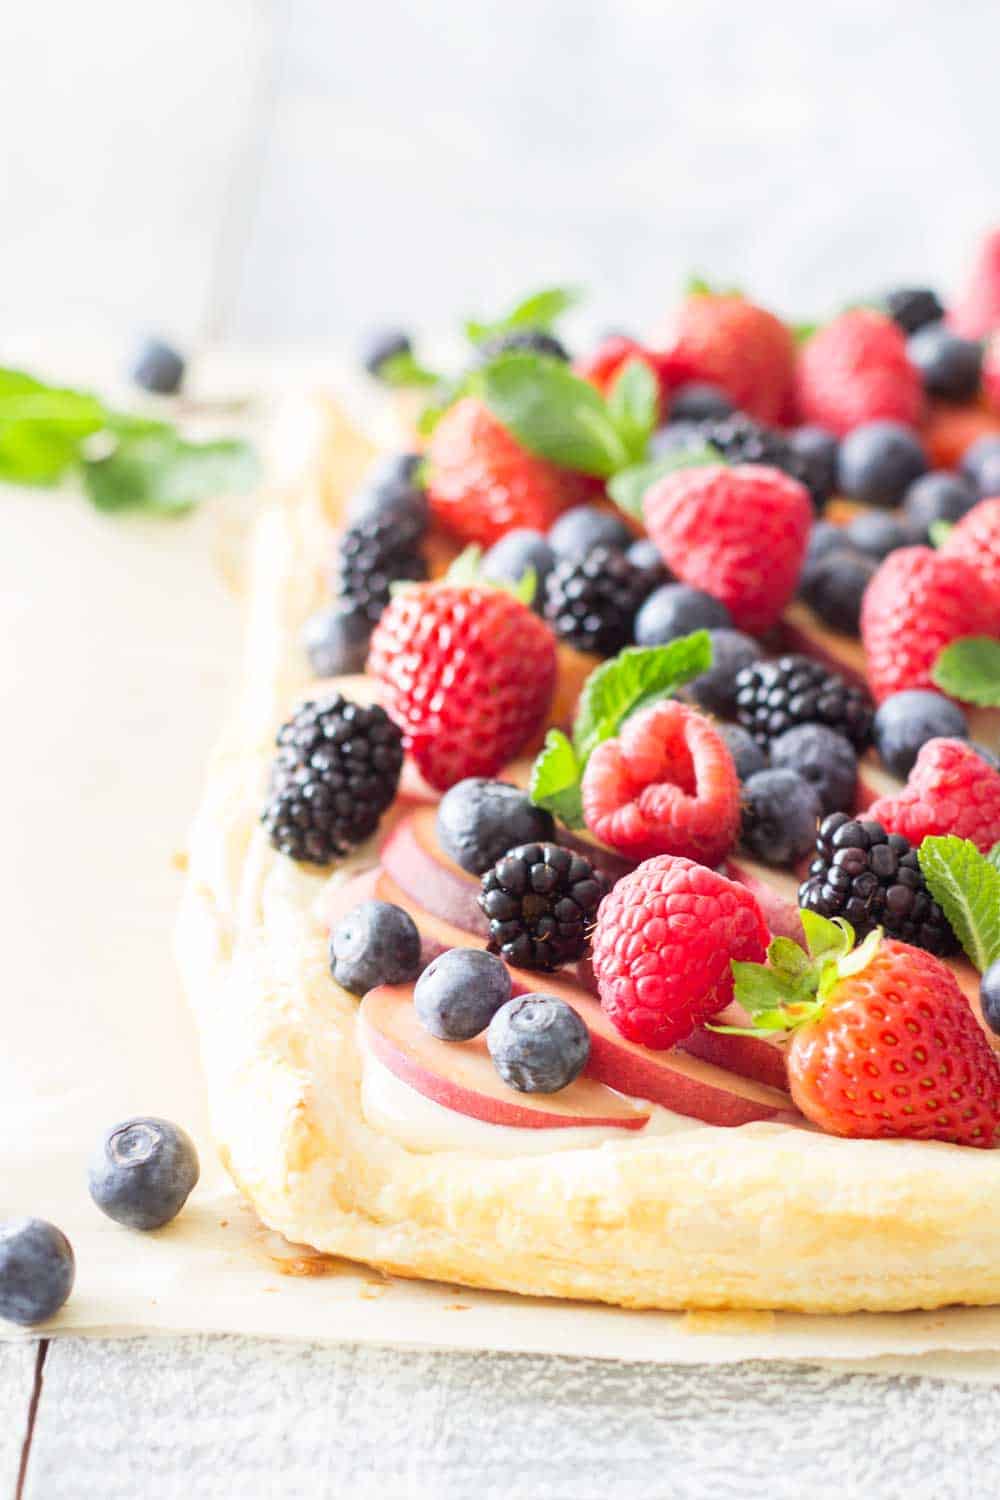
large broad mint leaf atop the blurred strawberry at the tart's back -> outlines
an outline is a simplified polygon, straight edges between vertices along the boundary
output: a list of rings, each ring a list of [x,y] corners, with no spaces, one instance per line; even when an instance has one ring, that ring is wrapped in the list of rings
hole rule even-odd
[[[607,477],[628,462],[604,398],[561,360],[501,354],[471,387],[519,442],[552,464]]]

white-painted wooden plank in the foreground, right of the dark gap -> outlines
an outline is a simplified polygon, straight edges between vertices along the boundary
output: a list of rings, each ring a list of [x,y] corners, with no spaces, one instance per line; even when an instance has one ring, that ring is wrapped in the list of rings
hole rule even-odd
[[[25,1500],[936,1500],[996,1492],[1000,1390],[237,1338],[55,1341]]]

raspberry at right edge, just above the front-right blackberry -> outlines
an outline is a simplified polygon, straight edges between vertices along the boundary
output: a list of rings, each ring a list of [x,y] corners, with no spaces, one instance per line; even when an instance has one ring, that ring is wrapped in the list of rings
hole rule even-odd
[[[928,834],[955,834],[985,854],[1000,840],[1000,772],[964,740],[928,740],[903,790],[868,813],[915,846]]]

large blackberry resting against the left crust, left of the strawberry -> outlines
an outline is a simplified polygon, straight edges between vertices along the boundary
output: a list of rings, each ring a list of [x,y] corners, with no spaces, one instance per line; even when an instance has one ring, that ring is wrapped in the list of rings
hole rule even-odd
[[[261,822],[289,858],[331,864],[375,832],[402,765],[402,735],[384,710],[340,693],[303,704],[279,730]]]

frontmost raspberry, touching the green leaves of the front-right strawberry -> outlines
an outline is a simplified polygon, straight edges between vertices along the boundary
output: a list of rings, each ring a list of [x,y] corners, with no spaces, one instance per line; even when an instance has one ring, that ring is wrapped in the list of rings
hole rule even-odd
[[[730,960],[762,960],[766,946],[750,891],[691,860],[660,855],[601,903],[592,952],[601,1006],[630,1041],[675,1047],[732,1000]]]

